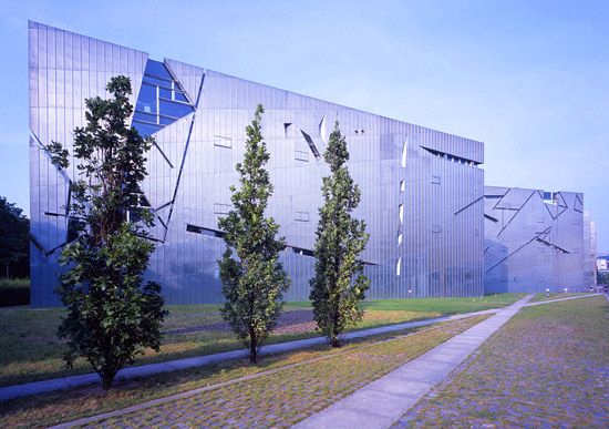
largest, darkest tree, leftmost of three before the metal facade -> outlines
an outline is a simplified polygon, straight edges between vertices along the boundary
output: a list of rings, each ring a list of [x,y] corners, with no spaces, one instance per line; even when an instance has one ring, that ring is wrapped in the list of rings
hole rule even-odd
[[[161,286],[143,280],[154,252],[146,233],[153,216],[137,208],[147,174],[144,155],[153,140],[128,126],[130,79],[112,78],[106,90],[113,95],[109,100],[85,100],[87,125],[74,130],[82,178],[71,185],[69,210],[78,221],[78,237],[61,252],[60,263],[69,269],[55,289],[68,309],[58,330],[60,338],[69,338],[66,366],[84,357],[104,390],[144,347],[158,351],[165,316]],[[69,166],[60,143],[51,143],[49,151],[55,165]]]

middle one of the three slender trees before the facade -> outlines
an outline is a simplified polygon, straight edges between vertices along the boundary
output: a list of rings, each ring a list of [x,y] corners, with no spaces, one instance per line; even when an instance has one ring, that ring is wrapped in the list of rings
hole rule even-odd
[[[261,135],[262,113],[258,104],[251,125],[246,127],[244,163],[236,166],[241,187],[236,191],[230,186],[234,210],[218,222],[225,231],[226,244],[223,259],[218,261],[226,298],[221,314],[249,350],[252,364],[276,326],[283,293],[290,285],[279,263],[285,239],[276,238],[279,225],[272,218],[265,218],[272,185],[264,168],[270,155]]]

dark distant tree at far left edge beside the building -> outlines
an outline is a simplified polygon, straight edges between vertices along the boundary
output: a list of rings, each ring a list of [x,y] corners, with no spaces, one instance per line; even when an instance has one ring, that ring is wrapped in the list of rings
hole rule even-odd
[[[22,210],[0,196],[0,264],[13,265],[13,276],[28,276],[30,272],[30,221],[22,215]]]

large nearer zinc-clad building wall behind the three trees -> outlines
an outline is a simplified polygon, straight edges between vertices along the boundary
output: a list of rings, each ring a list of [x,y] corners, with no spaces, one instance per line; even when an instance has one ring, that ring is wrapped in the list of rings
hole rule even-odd
[[[131,78],[132,124],[152,134],[141,206],[155,214],[157,248],[146,276],[168,304],[223,300],[216,261],[218,217],[230,210],[235,164],[258,103],[275,194],[268,215],[281,225],[286,298],[308,299],[314,232],[322,204],[321,154],[334,120],[347,136],[349,168],[362,192],[355,216],[370,242],[362,255],[369,298],[481,295],[483,287],[483,143],[349,109],[213,70],[29,23],[31,298],[56,305],[56,262],[72,239],[65,206],[74,164],[58,171],[45,150],[71,151],[84,125],[84,99],[106,96],[114,75]]]

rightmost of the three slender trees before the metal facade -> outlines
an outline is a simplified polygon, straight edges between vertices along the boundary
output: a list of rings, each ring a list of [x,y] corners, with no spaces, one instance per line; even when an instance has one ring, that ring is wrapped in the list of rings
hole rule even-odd
[[[370,280],[363,275],[363,252],[369,234],[365,224],[351,217],[360,203],[360,190],[349,175],[347,142],[338,121],[323,159],[331,175],[323,177],[324,204],[319,208],[314,247],[316,274],[310,279],[309,299],[318,329],[332,347],[340,347],[344,329],[362,319],[358,302],[365,298]]]

